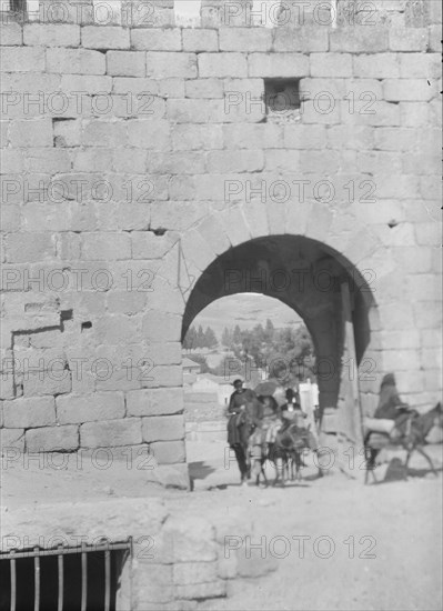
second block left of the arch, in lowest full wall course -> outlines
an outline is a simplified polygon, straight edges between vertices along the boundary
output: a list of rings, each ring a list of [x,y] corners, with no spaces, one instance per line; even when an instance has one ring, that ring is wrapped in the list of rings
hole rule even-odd
[[[112,448],[114,445],[137,445],[142,442],[141,419],[102,420],[80,427],[82,448]]]

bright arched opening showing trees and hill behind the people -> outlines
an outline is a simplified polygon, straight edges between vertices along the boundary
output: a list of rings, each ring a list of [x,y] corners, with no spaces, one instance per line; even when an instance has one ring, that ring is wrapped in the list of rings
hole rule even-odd
[[[315,354],[302,319],[260,293],[218,299],[197,315],[183,341],[185,447],[193,489],[238,483],[226,412],[239,378],[248,389],[270,388],[272,380],[281,405],[286,389],[296,389],[306,422],[316,429]]]

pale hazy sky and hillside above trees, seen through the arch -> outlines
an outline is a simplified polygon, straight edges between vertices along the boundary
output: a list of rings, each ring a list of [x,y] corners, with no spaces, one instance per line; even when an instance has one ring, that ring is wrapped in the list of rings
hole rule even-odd
[[[281,301],[258,293],[239,293],[213,301],[202,310],[192,322],[203,329],[212,327],[221,338],[224,327],[239,324],[243,329],[252,329],[258,323],[263,325],[271,319],[274,327],[300,324],[302,319]]]

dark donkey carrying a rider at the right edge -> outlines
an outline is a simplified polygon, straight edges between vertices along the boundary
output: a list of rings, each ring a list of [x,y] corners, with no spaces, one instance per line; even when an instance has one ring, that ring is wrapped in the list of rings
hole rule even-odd
[[[435,408],[430,410],[426,413],[421,415],[411,415],[410,419],[403,421],[401,424],[395,425],[400,432],[397,440],[392,440],[387,433],[374,433],[370,431],[364,438],[364,451],[366,459],[366,473],[364,483],[369,481],[369,473],[372,473],[374,481],[376,482],[374,468],[375,459],[382,450],[389,444],[401,445],[406,450],[406,461],[404,463],[404,469],[407,479],[407,464],[413,452],[419,452],[424,457],[431,467],[431,471],[436,475],[434,463],[431,460],[431,457],[426,454],[423,450],[423,445],[426,443],[426,437],[429,435],[431,429],[436,424],[442,427],[443,414],[442,414],[442,404],[439,402]]]

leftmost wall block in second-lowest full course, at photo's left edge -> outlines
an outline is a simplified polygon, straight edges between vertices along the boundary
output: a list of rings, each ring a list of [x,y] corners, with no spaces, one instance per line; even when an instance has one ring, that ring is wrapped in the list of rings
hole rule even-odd
[[[9,429],[32,429],[56,423],[53,397],[20,397],[3,403],[3,422]]]

